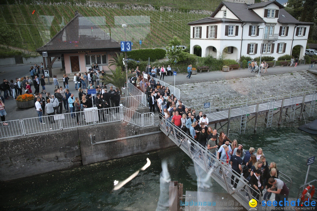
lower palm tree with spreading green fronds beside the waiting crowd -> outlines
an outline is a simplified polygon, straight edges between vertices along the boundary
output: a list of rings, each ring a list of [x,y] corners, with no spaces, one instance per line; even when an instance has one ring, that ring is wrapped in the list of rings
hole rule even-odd
[[[109,68],[110,69],[110,68]],[[103,81],[105,84],[113,84],[113,86],[117,87],[120,90],[121,93],[121,88],[124,86],[126,82],[126,73],[121,70],[121,67],[116,67],[115,70],[110,69],[112,74],[105,74],[105,76],[100,77],[100,79]],[[131,78],[132,74],[128,75],[128,78]]]

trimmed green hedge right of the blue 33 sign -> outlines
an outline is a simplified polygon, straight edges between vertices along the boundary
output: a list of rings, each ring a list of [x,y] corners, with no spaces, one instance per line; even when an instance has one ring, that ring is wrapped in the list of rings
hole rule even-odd
[[[127,57],[134,60],[147,61],[150,57],[150,61],[165,58],[166,51],[161,48],[155,49],[139,49],[127,52]]]

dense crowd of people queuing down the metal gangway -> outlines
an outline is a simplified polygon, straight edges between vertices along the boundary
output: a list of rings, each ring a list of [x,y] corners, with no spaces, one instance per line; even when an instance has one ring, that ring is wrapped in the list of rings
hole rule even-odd
[[[149,93],[151,93],[150,98],[152,98],[149,99],[151,104],[153,99],[156,98],[153,97],[155,91]],[[168,97],[167,104],[159,92],[157,95],[160,100],[157,100],[155,108],[158,108],[159,111],[161,108],[161,118],[168,120],[168,123],[164,126],[166,131],[170,130],[170,124],[173,123],[184,132],[183,134],[176,132],[180,141],[184,142],[184,134],[186,134],[186,136],[199,143],[203,149],[207,149],[210,153],[208,165],[211,169],[217,166],[215,164],[216,160],[220,160],[222,164],[227,165],[230,171],[221,170],[220,168],[220,172],[224,171],[225,177],[231,174],[233,190],[237,188],[239,178],[242,176],[249,181],[252,196],[257,200],[260,199],[264,189],[266,189],[263,195],[264,201],[268,201],[272,193],[275,193],[275,200],[277,201],[284,198],[287,200],[288,188],[278,178],[279,171],[276,163],[268,163],[261,147],[257,148],[256,151],[254,147],[245,150],[243,144],[238,143],[236,139],[231,141],[223,131],[218,135],[217,129],[208,126],[208,117],[205,114],[203,115],[201,111],[196,115],[195,109],[185,107],[180,99],[176,100],[174,97]],[[171,132],[173,133],[173,131]],[[194,143],[191,143],[191,151],[193,150]],[[198,157],[201,156],[203,155],[200,152]]]

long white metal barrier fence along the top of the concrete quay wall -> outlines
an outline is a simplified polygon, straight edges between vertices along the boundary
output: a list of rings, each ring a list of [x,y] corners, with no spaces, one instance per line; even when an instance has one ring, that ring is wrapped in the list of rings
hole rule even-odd
[[[146,127],[153,125],[153,116],[152,113],[141,114],[124,107],[122,104],[118,107],[105,109],[94,107],[74,113],[5,121],[8,125],[0,125],[0,139],[116,121],[127,121],[140,127]]]

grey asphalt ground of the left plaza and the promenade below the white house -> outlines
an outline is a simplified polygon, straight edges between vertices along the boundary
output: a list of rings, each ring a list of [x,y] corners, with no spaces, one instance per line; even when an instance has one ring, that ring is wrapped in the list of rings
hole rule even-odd
[[[9,81],[13,79],[15,81],[15,78],[22,78],[27,75],[29,75],[29,67],[34,64],[28,64],[28,65],[15,65],[15,66],[1,66],[0,67],[0,78],[1,80],[3,78],[8,79]],[[270,67],[268,68],[268,73],[261,73],[260,77],[265,77],[267,75],[271,74],[281,74],[281,73],[288,73],[293,71],[299,71],[299,70],[306,70],[309,65],[298,65],[297,68],[294,67]],[[56,61],[53,65],[53,74],[57,75],[57,78],[60,81],[60,85],[62,86],[62,75],[65,72],[60,71],[61,68],[61,62]],[[177,87],[178,84],[194,84],[199,82],[206,82],[206,81],[219,81],[219,80],[226,80],[226,79],[233,79],[233,78],[249,78],[249,77],[258,77],[258,74],[251,73],[248,71],[248,69],[240,69],[240,70],[233,70],[229,72],[223,72],[223,71],[213,71],[213,72],[202,72],[197,73],[196,75],[192,75],[191,79],[186,78],[187,73],[178,73],[177,76],[175,76],[175,85]],[[69,83],[69,90],[71,93],[74,94],[74,96],[78,96],[78,91],[75,91],[75,84],[72,82],[73,76],[68,76],[70,78]],[[47,83],[46,85],[46,91],[49,91],[51,94],[54,92],[55,86],[52,83],[52,78],[50,79],[50,84]],[[174,85],[174,76],[165,76],[164,82]],[[42,88],[40,87],[40,91]],[[34,87],[32,86],[32,91],[34,93]],[[272,90],[273,91],[273,90]],[[2,93],[3,94],[3,93]],[[212,93],[211,93],[212,94]],[[182,95],[182,91],[181,91]],[[45,97],[45,94],[43,95]],[[23,118],[30,118],[30,117],[36,117],[37,113],[34,108],[29,109],[18,109],[16,107],[16,102],[13,100],[12,97],[10,97],[8,100],[5,100],[5,109],[7,112],[6,120],[16,120],[16,119],[23,119]],[[63,110],[63,113],[65,111]]]

